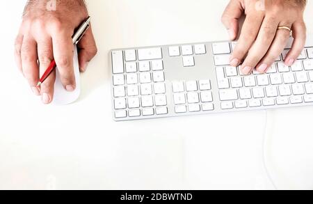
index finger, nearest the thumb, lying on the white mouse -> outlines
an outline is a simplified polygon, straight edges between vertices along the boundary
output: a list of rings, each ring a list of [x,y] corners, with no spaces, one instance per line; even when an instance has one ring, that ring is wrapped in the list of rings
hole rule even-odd
[[[61,83],[67,91],[74,91],[76,82],[73,66],[74,46],[72,36],[70,33],[56,33],[56,35],[52,36],[52,44]]]

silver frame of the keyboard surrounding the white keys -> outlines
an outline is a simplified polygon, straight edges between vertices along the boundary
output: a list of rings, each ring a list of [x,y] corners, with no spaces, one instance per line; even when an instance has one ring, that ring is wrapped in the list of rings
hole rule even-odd
[[[307,36],[307,43],[305,47],[313,47],[313,36]],[[176,117],[176,116],[193,116],[193,115],[204,115],[204,114],[215,114],[215,113],[231,113],[231,112],[236,112],[236,111],[253,111],[253,110],[266,110],[266,109],[282,109],[282,108],[289,108],[289,107],[304,107],[304,106],[312,106],[313,103],[300,103],[300,104],[283,104],[283,105],[278,105],[275,104],[273,106],[268,106],[264,107],[263,105],[261,107],[247,107],[247,108],[241,108],[241,109],[221,109],[220,108],[220,97],[217,86],[217,79],[216,79],[216,70],[215,70],[215,65],[214,65],[214,54],[211,49],[212,43],[218,43],[218,42],[229,42],[231,45],[231,41],[228,40],[223,40],[223,41],[214,41],[214,42],[196,42],[196,43],[184,43],[184,44],[177,44],[177,45],[161,45],[161,46],[150,46],[150,47],[127,47],[127,48],[122,48],[122,49],[111,49],[109,52],[109,68],[111,69],[111,101],[112,101],[112,117],[113,120],[115,121],[127,121],[127,120],[144,120],[144,119],[152,119],[152,118],[168,118],[168,117]],[[289,40],[289,43],[285,49],[290,49],[291,47],[291,40]],[[182,52],[180,53],[180,56],[169,56],[168,54],[168,47],[172,46],[179,46],[182,47],[184,45],[205,45],[206,46],[206,54],[202,55],[196,55],[193,54],[195,58],[195,67],[191,67],[189,69],[193,69],[194,72],[188,71],[184,72],[182,70]],[[114,109],[114,95],[113,95],[113,70],[112,70],[112,56],[111,53],[113,51],[120,51],[123,50],[123,56],[124,56],[124,51],[127,49],[145,49],[145,48],[155,48],[155,47],[161,47],[162,49],[162,56],[163,58],[161,59],[163,61],[163,66],[164,66],[164,74],[165,74],[165,84],[166,84],[166,97],[167,97],[167,106],[168,107],[168,114],[166,115],[157,115],[154,114],[153,116],[138,116],[138,117],[129,117],[127,115],[127,118],[115,118],[115,109]],[[230,46],[231,52],[232,52],[232,46]],[[194,53],[194,52],[193,52]],[[138,62],[138,54],[136,51],[137,55],[137,62]],[[173,60],[176,58],[176,60]],[[153,60],[150,60],[153,61]],[[178,63],[180,61],[180,63]],[[125,63],[125,61],[124,61]],[[196,67],[207,67],[207,69],[204,69],[203,67],[200,68],[199,70],[196,70]],[[227,66],[227,65],[225,65]],[[238,68],[237,68],[238,69]],[[126,74],[126,73],[124,73]],[[179,75],[179,76],[177,76]],[[206,75],[207,77],[203,77]],[[186,113],[175,113],[175,104],[173,102],[173,92],[172,92],[172,81],[199,81],[199,80],[211,80],[211,92],[213,94],[213,104],[214,104],[214,111],[198,111],[198,112],[189,112],[187,111]],[[140,83],[138,83],[140,84]],[[257,86],[259,87],[259,86]],[[265,86],[264,86],[265,87]],[[186,91],[185,91],[186,93]],[[198,91],[200,93],[200,91]],[[139,95],[138,97],[140,97]],[[127,96],[125,98],[128,98]],[[253,98],[252,98],[253,99]],[[262,99],[260,99],[262,100]],[[199,104],[202,104],[201,102]],[[186,106],[188,106],[188,102],[186,102]],[[155,106],[153,107],[154,109],[156,108]],[[139,108],[139,109],[144,109],[144,108]],[[187,107],[188,109],[188,107]],[[128,110],[128,109],[127,109]]]

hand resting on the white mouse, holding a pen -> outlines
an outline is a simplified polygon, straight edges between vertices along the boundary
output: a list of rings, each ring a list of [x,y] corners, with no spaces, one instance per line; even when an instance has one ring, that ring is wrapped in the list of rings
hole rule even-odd
[[[56,74],[51,74],[40,88],[36,85],[53,59],[64,88],[67,91],[76,88],[72,35],[74,29],[87,17],[88,11],[83,0],[29,0],[26,4],[15,42],[15,58],[33,92],[41,95],[45,104],[53,99]],[[91,29],[83,36],[78,48],[79,68],[84,72],[88,62],[97,54]]]

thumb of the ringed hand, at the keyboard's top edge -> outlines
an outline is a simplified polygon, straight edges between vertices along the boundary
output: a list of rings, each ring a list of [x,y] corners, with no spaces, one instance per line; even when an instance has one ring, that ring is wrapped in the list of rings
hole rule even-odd
[[[231,0],[222,16],[222,22],[226,27],[230,40],[235,40],[239,32],[239,18],[243,14],[243,7],[240,1]]]

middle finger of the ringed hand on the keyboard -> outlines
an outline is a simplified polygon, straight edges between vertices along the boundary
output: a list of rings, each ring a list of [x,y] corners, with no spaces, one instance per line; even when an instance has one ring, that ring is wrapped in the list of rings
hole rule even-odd
[[[278,19],[275,19],[274,17],[264,18],[257,40],[255,40],[255,43],[250,48],[248,56],[242,64],[242,72],[244,74],[250,73],[257,63],[262,60],[266,52],[268,52],[268,48],[271,47],[273,39],[275,38],[278,24]],[[267,68],[268,65],[262,64],[259,69],[266,70]]]

